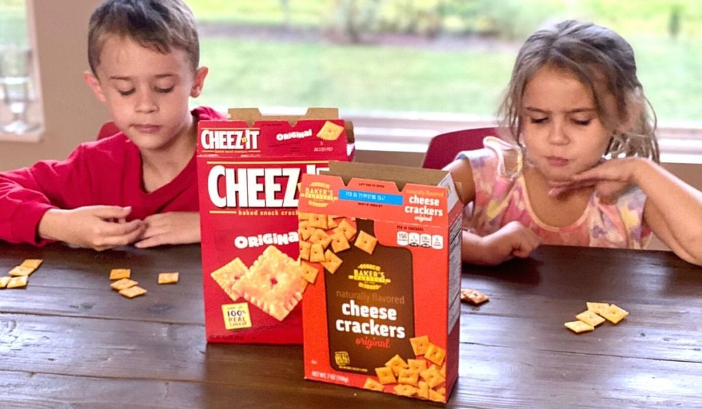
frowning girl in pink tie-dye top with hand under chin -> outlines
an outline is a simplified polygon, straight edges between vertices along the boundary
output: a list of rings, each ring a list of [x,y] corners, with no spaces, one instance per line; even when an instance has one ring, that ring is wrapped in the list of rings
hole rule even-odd
[[[472,205],[463,260],[540,243],[645,248],[652,231],[702,265],[702,193],[658,165],[648,107],[615,32],[568,20],[531,34],[500,109],[514,143],[486,138],[446,166]]]

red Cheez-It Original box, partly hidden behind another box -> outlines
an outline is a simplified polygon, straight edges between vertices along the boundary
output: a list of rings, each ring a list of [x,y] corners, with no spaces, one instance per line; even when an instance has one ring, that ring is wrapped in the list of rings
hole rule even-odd
[[[337,109],[229,117],[198,124],[207,341],[299,344],[298,185],[331,160],[350,160],[351,126]]]

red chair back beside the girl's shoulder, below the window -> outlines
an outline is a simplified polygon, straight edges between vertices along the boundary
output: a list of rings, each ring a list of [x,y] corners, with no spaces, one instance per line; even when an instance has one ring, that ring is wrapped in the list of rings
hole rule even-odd
[[[453,161],[458,152],[482,148],[486,136],[498,136],[497,128],[454,130],[436,135],[429,142],[422,167],[441,169]]]

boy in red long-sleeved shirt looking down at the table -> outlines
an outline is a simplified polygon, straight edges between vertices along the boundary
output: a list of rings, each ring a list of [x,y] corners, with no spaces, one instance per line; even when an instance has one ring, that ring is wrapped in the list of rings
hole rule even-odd
[[[0,239],[95,250],[199,242],[197,121],[223,116],[188,109],[207,75],[192,12],[182,0],[107,0],[91,16],[88,61],[84,79],[121,132],[65,161],[0,173]]]

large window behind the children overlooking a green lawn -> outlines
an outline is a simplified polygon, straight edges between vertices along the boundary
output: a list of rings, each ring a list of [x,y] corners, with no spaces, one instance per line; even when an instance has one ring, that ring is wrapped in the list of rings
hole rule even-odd
[[[697,1],[187,3],[199,21],[201,61],[211,69],[199,102],[340,107],[365,140],[402,136],[418,146],[437,132],[492,121],[517,50],[534,29],[564,18],[594,21],[634,47],[667,159],[702,154]]]

